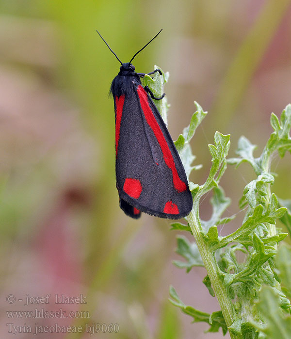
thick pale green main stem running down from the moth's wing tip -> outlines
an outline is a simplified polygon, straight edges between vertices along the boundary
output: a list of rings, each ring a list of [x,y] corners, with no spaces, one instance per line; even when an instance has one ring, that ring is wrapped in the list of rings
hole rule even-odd
[[[195,199],[194,199],[195,200]],[[195,203],[194,206],[199,206],[199,203]],[[210,277],[210,281],[215,291],[215,295],[217,297],[218,303],[221,307],[225,322],[227,327],[231,326],[234,322],[236,313],[233,308],[232,302],[227,295],[226,289],[222,285],[222,281],[218,276],[218,266],[215,261],[213,251],[210,250],[209,246],[205,242],[203,238],[202,229],[199,222],[199,211],[198,209],[193,209],[189,216],[187,217],[190,228],[193,232],[194,238],[196,240],[196,244],[198,250],[200,252],[201,258],[204,262],[205,268],[207,270],[207,274]],[[239,339],[241,337],[236,336],[229,332],[231,339]]]

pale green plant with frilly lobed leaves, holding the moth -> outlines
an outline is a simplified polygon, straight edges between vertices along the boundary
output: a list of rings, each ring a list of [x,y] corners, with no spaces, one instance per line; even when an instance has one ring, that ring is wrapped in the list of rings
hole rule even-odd
[[[168,74],[164,73],[156,74],[154,79],[146,76],[144,85],[161,95],[167,78]],[[188,177],[192,170],[200,168],[192,166],[195,157],[190,141],[207,114],[195,105],[189,126],[175,142]],[[166,116],[167,108],[166,103],[159,107],[162,116]],[[271,125],[274,132],[257,158],[253,155],[256,146],[245,137],[239,139],[237,157],[227,158],[230,135],[216,132],[214,144],[209,145],[212,165],[208,178],[203,185],[189,183],[194,203],[192,212],[185,218],[188,223],[171,225],[172,230],[190,232],[195,239],[190,243],[185,237],[178,237],[177,253],[185,260],[174,264],[186,272],[194,266],[204,266],[207,276],[203,282],[209,293],[216,296],[221,310],[209,314],[187,306],[172,286],[171,303],[192,316],[194,322],[208,323],[208,332],[217,332],[221,327],[223,334],[229,331],[231,338],[291,338],[291,250],[283,246],[278,250],[279,242],[288,233],[275,226],[276,220],[281,219],[290,230],[291,202],[279,200],[278,203],[271,191],[275,180],[275,173],[271,172],[272,154],[278,152],[283,157],[287,151],[291,152],[291,105],[283,110],[280,119],[272,113]],[[217,225],[235,218],[222,217],[230,199],[219,185],[220,179],[227,165],[238,167],[242,162],[252,166],[257,178],[245,186],[239,202],[244,213],[242,225],[227,236],[219,236]],[[204,221],[199,216],[199,203],[210,191],[212,216]],[[243,262],[237,260],[236,252],[243,254]]]

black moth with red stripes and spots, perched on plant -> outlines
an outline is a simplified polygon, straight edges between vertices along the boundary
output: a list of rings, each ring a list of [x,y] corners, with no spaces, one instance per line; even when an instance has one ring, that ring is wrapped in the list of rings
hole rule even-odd
[[[161,30],[162,31],[162,30]],[[141,212],[161,218],[179,219],[192,209],[192,195],[187,176],[174,142],[152,99],[150,89],[143,87],[131,64],[160,33],[134,54],[129,62],[121,62],[110,92],[115,108],[116,187],[121,209],[132,218]],[[154,74],[161,70],[156,69]]]

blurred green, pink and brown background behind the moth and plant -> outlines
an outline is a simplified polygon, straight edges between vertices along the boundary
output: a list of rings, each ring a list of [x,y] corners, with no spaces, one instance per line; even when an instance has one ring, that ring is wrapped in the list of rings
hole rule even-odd
[[[119,209],[108,97],[119,63],[95,30],[126,62],[163,28],[134,65],[138,72],[154,64],[169,71],[173,139],[189,124],[194,100],[209,111],[193,139],[195,164],[203,169],[191,180],[202,184],[216,130],[231,134],[231,156],[241,135],[258,145],[259,155],[272,132],[271,112],[278,115],[291,102],[290,15],[290,0],[1,0],[1,338],[222,337],[204,334],[206,324],[191,324],[167,300],[172,284],[186,304],[219,308],[202,283],[203,268],[186,274],[172,264],[179,259],[178,233],[169,231],[170,221],[145,214],[136,221]],[[282,199],[291,196],[290,161],[290,154],[273,160],[274,191]],[[226,171],[227,215],[239,211],[243,187],[254,178],[248,165]],[[209,198],[201,204],[205,219]],[[48,293],[48,304],[33,304]],[[55,304],[55,294],[63,293],[82,294],[86,304]],[[9,294],[14,303],[6,301]],[[32,304],[24,306],[26,297]],[[9,319],[6,313],[35,308],[84,311],[89,318]],[[9,333],[7,324],[24,323],[32,332],[35,323],[118,324],[119,331]]]

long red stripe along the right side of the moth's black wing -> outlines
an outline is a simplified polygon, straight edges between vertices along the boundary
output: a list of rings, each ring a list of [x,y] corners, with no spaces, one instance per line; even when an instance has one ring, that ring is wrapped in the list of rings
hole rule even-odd
[[[169,146],[167,144],[167,141],[166,141],[166,139],[165,139],[165,137],[162,133],[161,127],[159,126],[159,123],[155,119],[154,114],[153,114],[151,108],[148,105],[148,100],[147,100],[148,96],[147,96],[147,93],[144,90],[143,86],[138,87],[137,93],[138,93],[138,96],[139,96],[139,99],[140,99],[140,104],[141,104],[142,110],[143,110],[145,118],[146,118],[146,122],[149,124],[149,126],[153,130],[154,135],[156,136],[156,138],[159,142],[159,145],[161,147],[162,154],[163,154],[163,159],[164,159],[166,165],[168,166],[168,168],[170,170],[172,170],[174,187],[178,192],[183,192],[183,191],[186,190],[187,186],[179,178],[173,155],[172,155],[172,153],[169,149]]]

